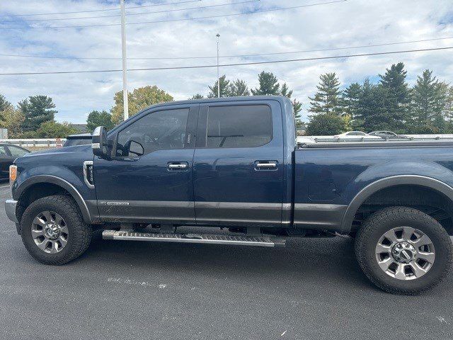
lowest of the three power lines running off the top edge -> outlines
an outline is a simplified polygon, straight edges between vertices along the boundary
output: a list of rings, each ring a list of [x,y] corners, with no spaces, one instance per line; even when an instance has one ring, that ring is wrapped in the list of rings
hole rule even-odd
[[[306,4],[306,5],[292,6],[292,7],[258,9],[256,11],[231,13],[231,14],[220,14],[217,16],[199,16],[199,17],[195,17],[195,18],[179,18],[179,19],[166,19],[166,20],[157,20],[157,21],[143,21],[143,22],[139,22],[139,23],[126,23],[126,25],[145,25],[148,23],[168,23],[168,22],[175,22],[175,21],[192,21],[192,20],[200,20],[200,19],[226,18],[226,17],[231,17],[231,16],[243,16],[243,15],[248,15],[248,14],[266,13],[266,12],[273,12],[273,11],[286,11],[288,9],[297,9],[297,8],[312,7],[312,6],[319,6],[319,5],[338,4],[340,2],[346,2],[346,1],[348,1],[348,0],[327,1],[327,2],[321,2],[321,3],[316,3],[316,4]],[[42,27],[4,26],[4,27],[0,27],[0,29],[86,28],[86,27],[120,26],[120,25],[121,25],[120,23],[102,23],[102,24],[95,24],[95,25],[76,25],[76,26],[42,26]]]

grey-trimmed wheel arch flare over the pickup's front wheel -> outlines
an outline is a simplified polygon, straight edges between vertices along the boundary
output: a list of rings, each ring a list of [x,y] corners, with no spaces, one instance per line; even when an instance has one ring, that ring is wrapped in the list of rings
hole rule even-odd
[[[13,196],[20,202],[21,198],[26,195],[26,193],[30,192],[30,190],[33,190],[33,188],[39,188],[40,186],[46,184],[52,186],[53,188],[61,188],[62,191],[68,193],[69,196],[71,196],[79,206],[81,214],[84,217],[84,221],[88,224],[93,223],[93,217],[91,216],[88,206],[86,205],[86,202],[79,191],[71,183],[60,177],[52,175],[38,175],[30,177],[23,181],[21,185],[18,186],[18,188],[16,188]],[[42,197],[45,196],[47,195],[44,195]]]

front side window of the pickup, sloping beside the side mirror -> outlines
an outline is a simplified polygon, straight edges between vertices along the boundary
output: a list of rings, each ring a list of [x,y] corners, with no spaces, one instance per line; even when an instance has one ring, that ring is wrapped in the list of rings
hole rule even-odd
[[[161,149],[183,149],[188,115],[188,108],[178,108],[156,111],[136,120],[118,132],[116,156],[130,157],[131,142],[142,145],[143,154]]]

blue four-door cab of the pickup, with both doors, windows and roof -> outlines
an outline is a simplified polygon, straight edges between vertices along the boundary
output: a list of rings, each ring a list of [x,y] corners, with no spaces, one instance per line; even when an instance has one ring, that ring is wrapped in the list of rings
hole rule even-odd
[[[290,203],[285,166],[291,165],[284,154],[282,103],[188,101],[132,117],[108,135],[110,154],[93,159],[99,218],[280,227],[282,205]],[[294,148],[294,137],[292,143]]]

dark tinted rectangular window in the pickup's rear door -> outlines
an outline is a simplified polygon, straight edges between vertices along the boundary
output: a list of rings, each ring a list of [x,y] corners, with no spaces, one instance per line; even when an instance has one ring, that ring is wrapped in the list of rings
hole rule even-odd
[[[259,147],[272,140],[267,105],[213,106],[207,114],[207,147]]]

